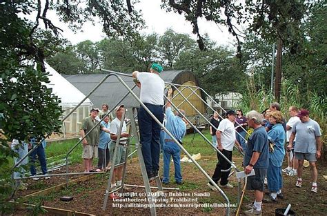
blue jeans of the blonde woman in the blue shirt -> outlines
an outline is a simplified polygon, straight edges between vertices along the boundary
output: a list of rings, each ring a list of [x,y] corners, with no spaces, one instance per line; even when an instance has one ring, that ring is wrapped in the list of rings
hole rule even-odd
[[[283,187],[283,177],[281,176],[281,166],[273,166],[269,159],[267,170],[268,190],[270,192],[278,192]]]

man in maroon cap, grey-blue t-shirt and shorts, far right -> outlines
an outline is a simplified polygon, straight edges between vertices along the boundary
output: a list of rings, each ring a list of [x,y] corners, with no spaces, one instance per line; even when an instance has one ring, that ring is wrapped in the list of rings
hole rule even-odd
[[[292,148],[295,135],[297,137],[297,144],[295,145],[295,159],[299,163],[297,168],[297,183],[295,186],[301,188],[302,186],[302,173],[304,159],[309,161],[311,167],[311,176],[313,184],[311,192],[317,193],[317,177],[318,171],[316,166],[317,159],[321,156],[321,131],[317,121],[310,119],[308,110],[300,110],[297,114],[300,121],[292,128],[290,135],[290,142],[287,146],[288,150]]]

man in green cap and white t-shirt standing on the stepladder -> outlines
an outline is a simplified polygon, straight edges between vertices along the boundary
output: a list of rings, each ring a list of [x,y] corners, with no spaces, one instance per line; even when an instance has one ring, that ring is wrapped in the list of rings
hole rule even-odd
[[[141,88],[140,99],[153,115],[162,123],[164,120],[164,88],[165,83],[159,75],[163,68],[159,63],[152,63],[150,72],[132,73]],[[141,106],[138,113],[139,135],[144,164],[148,178],[158,175],[160,155],[160,126]]]

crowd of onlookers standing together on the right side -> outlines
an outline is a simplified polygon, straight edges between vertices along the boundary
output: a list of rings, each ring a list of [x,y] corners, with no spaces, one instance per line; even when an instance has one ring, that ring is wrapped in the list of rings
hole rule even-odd
[[[255,201],[250,210],[245,212],[246,215],[260,215],[262,202],[277,202],[277,198],[284,198],[281,193],[283,187],[282,172],[288,173],[290,176],[297,175],[295,186],[301,187],[304,159],[309,161],[311,167],[313,181],[311,192],[317,193],[316,161],[321,155],[319,124],[310,119],[308,110],[298,110],[297,107],[291,106],[289,114],[290,119],[286,122],[277,102],[271,104],[270,108],[261,114],[255,110],[248,112],[246,117],[243,120],[239,119],[238,124],[236,124],[236,127],[248,126],[254,130],[245,146],[239,144],[241,139],[236,139],[237,135],[239,137],[243,137],[243,135],[237,132],[232,124],[242,116],[241,110],[237,110],[237,113],[233,110],[226,112],[226,119],[220,120],[217,115],[212,118],[215,120],[212,120],[211,123],[217,128],[216,132],[214,128],[210,128],[212,141],[215,142],[217,139],[216,145],[221,153],[217,153],[219,161],[212,175],[212,180],[216,184],[220,180],[220,185],[223,188],[233,187],[228,184],[228,169],[230,168],[229,161],[232,159],[234,144],[239,150],[244,150],[244,172],[250,174],[252,170],[255,170],[255,175],[248,177],[246,186],[248,190],[255,190]],[[219,124],[215,124],[215,121],[219,121]],[[288,155],[288,167],[282,170],[281,166],[286,153]],[[266,193],[269,195],[266,199],[264,199],[265,179],[267,179],[268,184]],[[208,183],[208,186],[212,190],[217,190],[211,182]]]

